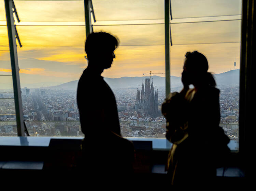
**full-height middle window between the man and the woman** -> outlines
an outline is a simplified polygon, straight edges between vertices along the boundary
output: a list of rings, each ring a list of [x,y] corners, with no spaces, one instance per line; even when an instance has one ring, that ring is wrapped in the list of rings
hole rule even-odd
[[[104,8],[110,6],[103,4],[106,2],[115,3],[112,7],[117,9],[116,15],[115,11]],[[104,20],[94,24],[94,32],[108,32],[120,40],[114,63],[102,76],[115,94],[122,136],[165,139],[166,121],[161,115],[165,99],[165,30],[162,21],[153,21],[164,18],[164,1],[134,1],[134,4],[93,1],[93,4],[96,19]],[[102,15],[100,19],[98,15]]]

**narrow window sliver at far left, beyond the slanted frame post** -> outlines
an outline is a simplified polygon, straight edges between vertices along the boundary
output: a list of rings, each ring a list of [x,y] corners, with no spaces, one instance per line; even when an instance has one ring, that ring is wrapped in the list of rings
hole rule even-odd
[[[0,136],[17,136],[4,1],[0,1]]]

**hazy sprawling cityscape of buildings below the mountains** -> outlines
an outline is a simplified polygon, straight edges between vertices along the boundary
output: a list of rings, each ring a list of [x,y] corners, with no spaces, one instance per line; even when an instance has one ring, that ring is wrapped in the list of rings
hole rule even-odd
[[[150,81],[149,78],[148,81]],[[138,86],[141,84],[142,81],[138,83]],[[165,86],[154,88],[153,80],[151,85],[153,95],[155,95],[153,97],[154,108],[151,108],[152,103],[150,101],[146,107],[140,107],[142,106],[140,105],[142,98],[138,99],[138,88],[112,88],[116,97],[120,130],[123,137],[165,138],[166,119],[161,115],[161,104],[165,99]],[[146,86],[150,87],[150,84],[145,84],[145,90]],[[223,127],[225,134],[231,140],[238,140],[239,84],[222,84],[217,88],[221,90],[219,97],[220,126]],[[181,89],[182,86],[176,86],[171,89],[171,92]],[[75,89],[30,89],[25,87],[21,90],[23,117],[30,136],[84,137],[81,131]],[[146,94],[144,94],[144,98],[146,98]],[[97,122],[92,128],[97,128]],[[0,136],[17,136],[13,92],[6,89],[0,90]]]

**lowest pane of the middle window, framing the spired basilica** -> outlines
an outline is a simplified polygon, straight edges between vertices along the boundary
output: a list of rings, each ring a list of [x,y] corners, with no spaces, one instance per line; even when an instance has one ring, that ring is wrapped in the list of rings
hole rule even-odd
[[[161,116],[165,99],[165,46],[120,46],[115,55],[112,67],[104,70],[102,76],[116,97],[121,134],[165,138],[166,121]],[[154,100],[149,98],[151,91]]]

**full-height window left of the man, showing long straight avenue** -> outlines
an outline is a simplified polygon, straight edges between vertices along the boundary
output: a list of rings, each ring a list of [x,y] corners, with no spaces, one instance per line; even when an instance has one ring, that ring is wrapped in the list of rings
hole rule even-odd
[[[15,1],[24,120],[31,136],[83,137],[76,88],[86,67],[84,1]]]

